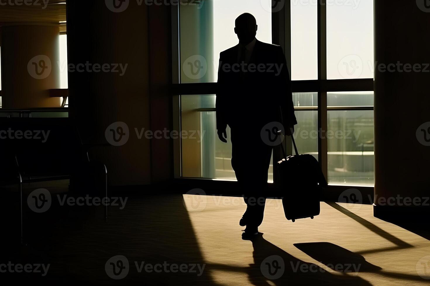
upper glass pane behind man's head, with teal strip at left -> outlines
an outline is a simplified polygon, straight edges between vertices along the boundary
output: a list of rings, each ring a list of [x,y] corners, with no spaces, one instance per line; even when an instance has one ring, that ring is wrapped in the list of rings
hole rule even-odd
[[[219,54],[238,44],[234,21],[242,13],[251,13],[257,20],[257,39],[271,43],[271,2],[216,0],[180,5],[181,83],[218,80]]]

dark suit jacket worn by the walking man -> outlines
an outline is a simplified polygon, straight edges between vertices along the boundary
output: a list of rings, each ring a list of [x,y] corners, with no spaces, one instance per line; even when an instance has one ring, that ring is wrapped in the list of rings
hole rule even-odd
[[[257,40],[246,65],[238,63],[239,49],[240,45],[236,45],[220,54],[217,129],[225,129],[227,124],[232,129],[261,129],[264,124],[273,121],[289,127],[297,124],[291,81],[282,48]]]

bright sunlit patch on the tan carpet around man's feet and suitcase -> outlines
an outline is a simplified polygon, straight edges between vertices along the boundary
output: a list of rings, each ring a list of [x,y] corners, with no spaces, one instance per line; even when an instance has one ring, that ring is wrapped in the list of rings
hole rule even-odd
[[[243,199],[184,195],[184,205],[213,280],[221,285],[239,285],[236,282],[244,285],[245,281],[249,281],[249,285],[255,283],[252,279],[257,278],[249,273],[249,265],[255,263],[254,248],[251,241],[241,239],[243,227],[239,226],[246,209]],[[338,206],[341,208],[337,209]],[[411,280],[414,285],[428,285],[429,280],[420,277],[426,275],[420,259],[430,255],[430,241],[373,217],[372,205],[339,203],[338,206],[335,208],[322,202],[319,216],[292,223],[284,216],[281,200],[267,199],[259,231],[264,233],[265,241],[282,249],[287,257],[314,263],[335,276],[357,275],[357,279],[372,285],[398,285],[411,283]],[[378,270],[338,272],[312,258],[312,253],[308,255],[294,245],[319,245],[312,243],[331,245],[344,253],[352,252],[351,255],[358,253],[365,259],[364,266]],[[286,268],[293,267],[289,262],[285,265]],[[260,276],[258,279],[263,282],[264,276]]]

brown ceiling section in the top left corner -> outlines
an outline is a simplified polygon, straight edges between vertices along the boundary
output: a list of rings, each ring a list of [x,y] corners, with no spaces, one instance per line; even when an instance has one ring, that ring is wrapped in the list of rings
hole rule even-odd
[[[66,21],[67,0],[7,0],[0,4],[0,26],[9,23],[50,23]],[[22,4],[17,6],[16,3]],[[31,3],[25,5],[24,3]],[[46,5],[46,4],[47,5]],[[59,24],[60,32],[66,31],[65,24]]]

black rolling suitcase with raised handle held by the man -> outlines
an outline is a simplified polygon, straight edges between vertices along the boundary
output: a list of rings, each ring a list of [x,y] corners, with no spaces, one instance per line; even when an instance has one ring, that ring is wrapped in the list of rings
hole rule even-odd
[[[286,156],[281,144],[283,157],[276,165],[281,178],[281,186],[288,188],[283,192],[282,204],[287,220],[319,215],[319,202],[322,189],[326,187],[326,178],[322,174],[318,161],[310,154],[299,155],[294,141],[295,155]]]

